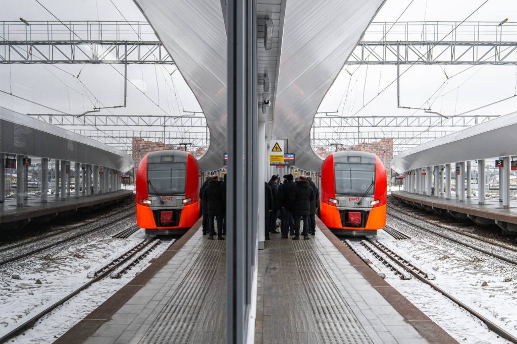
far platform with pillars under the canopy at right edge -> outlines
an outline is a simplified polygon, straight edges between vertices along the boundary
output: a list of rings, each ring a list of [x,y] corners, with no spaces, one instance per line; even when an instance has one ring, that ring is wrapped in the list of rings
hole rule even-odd
[[[503,232],[517,232],[517,202],[510,201],[510,207],[504,208],[497,198],[486,197],[480,205],[477,197],[465,198],[460,202],[458,197],[451,199],[392,191],[393,197],[399,198],[419,208],[448,213],[457,219],[470,219],[478,225],[497,225]]]

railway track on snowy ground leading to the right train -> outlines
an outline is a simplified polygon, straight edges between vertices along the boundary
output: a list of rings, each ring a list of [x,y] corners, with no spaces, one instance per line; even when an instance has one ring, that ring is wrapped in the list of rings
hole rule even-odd
[[[486,326],[490,330],[492,330],[494,333],[496,333],[500,337],[505,338],[507,340],[510,340],[510,341],[512,341],[514,343],[517,343],[517,337],[515,337],[511,333],[507,332],[505,329],[503,329],[502,327],[498,326],[497,324],[492,322],[490,319],[484,317],[482,314],[477,312],[474,308],[468,306],[467,304],[465,304],[464,302],[462,302],[461,300],[459,300],[455,296],[449,294],[443,288],[441,288],[438,285],[436,285],[435,283],[431,282],[431,279],[434,279],[434,275],[429,274],[428,272],[426,272],[422,268],[419,268],[415,264],[410,262],[410,260],[405,259],[401,255],[393,252],[392,249],[390,249],[388,246],[386,246],[384,243],[380,242],[379,240],[375,240],[375,239],[372,239],[372,238],[368,238],[368,240],[370,241],[371,245],[373,247],[375,247],[375,249],[377,249],[379,252],[384,253],[393,262],[396,262],[404,271],[407,271],[409,274],[413,275],[415,278],[420,280],[420,282],[429,285],[431,288],[433,288],[437,292],[443,294],[444,296],[446,296],[446,298],[448,298],[449,300],[451,300],[452,302],[454,302],[458,306],[460,306],[463,309],[465,309],[466,311],[468,311],[470,314],[472,314],[473,316],[475,316],[476,318],[478,318],[479,320],[484,322],[486,324]],[[364,242],[366,242],[366,240],[363,240],[363,245],[367,246]],[[369,250],[369,251],[372,252],[374,250],[372,249],[372,250]],[[376,252],[376,253],[372,252],[372,254],[376,258],[381,257],[381,255],[379,255],[378,252]],[[383,261],[383,260],[386,260],[386,259],[383,258],[381,261]],[[383,263],[385,263],[385,262],[383,261]],[[400,272],[396,272],[396,274],[400,274]]]

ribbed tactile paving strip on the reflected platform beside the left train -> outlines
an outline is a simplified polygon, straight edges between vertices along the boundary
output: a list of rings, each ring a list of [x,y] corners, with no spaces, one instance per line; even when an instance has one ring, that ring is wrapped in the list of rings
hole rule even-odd
[[[206,241],[200,255],[140,343],[189,342],[224,248],[225,241]]]

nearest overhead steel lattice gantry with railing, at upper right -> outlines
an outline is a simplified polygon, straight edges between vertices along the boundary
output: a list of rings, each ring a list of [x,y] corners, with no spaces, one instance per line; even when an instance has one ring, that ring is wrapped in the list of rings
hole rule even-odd
[[[517,23],[374,22],[348,64],[515,65]]]

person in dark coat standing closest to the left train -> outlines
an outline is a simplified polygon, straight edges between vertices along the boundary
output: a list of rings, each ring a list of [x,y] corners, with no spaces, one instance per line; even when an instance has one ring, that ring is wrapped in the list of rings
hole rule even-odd
[[[214,240],[216,234],[214,220],[217,221],[217,238],[223,240],[222,227],[224,216],[224,193],[221,187],[221,182],[217,176],[212,177],[208,181],[208,185],[203,192],[203,199],[208,203],[208,228],[210,233],[208,239]]]

